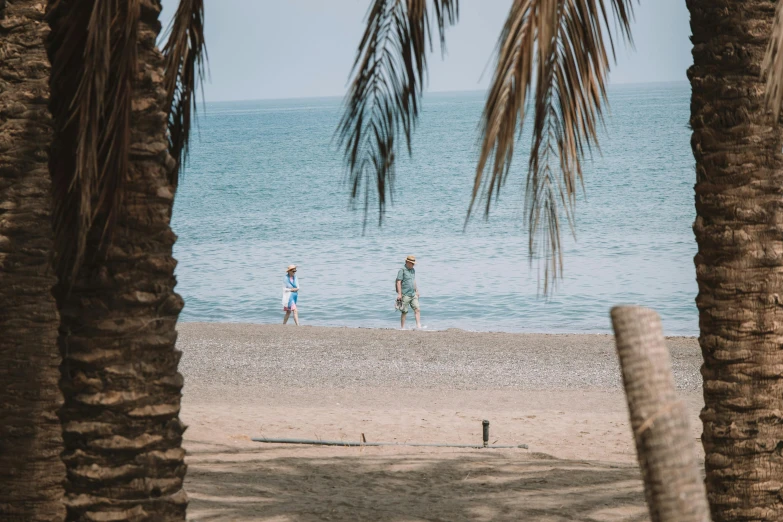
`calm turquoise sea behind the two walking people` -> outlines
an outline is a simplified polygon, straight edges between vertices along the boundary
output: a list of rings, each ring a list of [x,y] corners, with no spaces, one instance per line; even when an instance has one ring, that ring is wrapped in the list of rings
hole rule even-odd
[[[364,234],[332,141],[340,99],[209,103],[174,207],[181,319],[280,322],[296,263],[303,324],[394,327],[394,278],[415,254],[430,329],[608,332],[609,308],[633,303],[656,309],[667,334],[695,335],[689,97],[686,83],[610,90],[602,154],[586,164],[576,240],[564,238],[549,299],[527,257],[524,147],[489,221],[463,231],[481,93],[425,98],[393,205],[382,228],[371,207]]]

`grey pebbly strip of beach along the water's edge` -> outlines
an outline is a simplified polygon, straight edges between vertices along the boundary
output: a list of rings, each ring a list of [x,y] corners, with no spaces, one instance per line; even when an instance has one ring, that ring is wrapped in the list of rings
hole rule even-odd
[[[181,323],[188,386],[620,389],[609,335]],[[701,389],[692,337],[667,339],[678,389]]]

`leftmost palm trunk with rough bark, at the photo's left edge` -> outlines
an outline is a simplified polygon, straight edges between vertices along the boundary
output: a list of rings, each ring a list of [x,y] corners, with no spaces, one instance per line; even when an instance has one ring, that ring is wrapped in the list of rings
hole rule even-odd
[[[44,2],[0,1],[0,520],[65,515]]]

